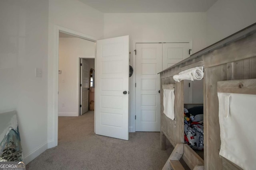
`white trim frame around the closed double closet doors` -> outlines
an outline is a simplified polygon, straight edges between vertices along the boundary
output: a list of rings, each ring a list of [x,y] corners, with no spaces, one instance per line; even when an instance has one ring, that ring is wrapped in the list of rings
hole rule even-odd
[[[136,120],[135,120],[135,115],[136,115],[136,88],[135,88],[135,83],[136,83],[136,55],[135,55],[135,51],[136,50],[136,44],[137,43],[189,43],[189,48],[192,49],[191,54],[193,54],[193,40],[192,39],[172,39],[172,40],[159,40],[159,41],[152,41],[152,40],[133,40],[133,46],[132,46],[132,67],[133,67],[133,72],[135,74],[133,74],[133,78],[132,78],[132,86],[131,87],[131,91],[132,93],[132,112],[131,112],[131,116],[132,116],[132,127],[129,127],[129,132],[136,132]]]

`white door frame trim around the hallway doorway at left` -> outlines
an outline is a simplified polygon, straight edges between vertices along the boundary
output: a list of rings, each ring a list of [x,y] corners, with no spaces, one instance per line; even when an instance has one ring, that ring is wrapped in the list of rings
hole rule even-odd
[[[53,98],[53,129],[52,130],[52,135],[53,135],[53,141],[50,141],[50,145],[48,144],[48,148],[55,147],[58,145],[58,67],[59,67],[59,32],[63,32],[66,34],[74,35],[75,37],[79,37],[82,39],[86,39],[88,41],[96,42],[97,39],[95,37],[92,37],[90,35],[86,35],[84,33],[80,33],[78,31],[74,31],[72,29],[68,29],[65,27],[60,27],[58,25],[54,25],[54,42],[53,42],[53,52],[54,52],[54,61],[53,61],[53,66],[54,66],[54,75],[53,75],[53,93],[48,96],[48,98]],[[95,62],[96,65],[96,62]],[[50,113],[48,113],[50,114]],[[95,122],[95,117],[94,117],[94,122]],[[48,125],[49,129],[49,125]],[[95,127],[94,127],[95,129]],[[48,133],[48,139],[50,138],[51,134]]]

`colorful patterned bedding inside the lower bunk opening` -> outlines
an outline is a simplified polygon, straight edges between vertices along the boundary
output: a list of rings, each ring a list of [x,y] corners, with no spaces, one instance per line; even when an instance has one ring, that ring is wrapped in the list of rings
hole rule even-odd
[[[204,122],[202,117],[202,115],[191,115],[184,110],[184,140],[195,150],[204,150]]]

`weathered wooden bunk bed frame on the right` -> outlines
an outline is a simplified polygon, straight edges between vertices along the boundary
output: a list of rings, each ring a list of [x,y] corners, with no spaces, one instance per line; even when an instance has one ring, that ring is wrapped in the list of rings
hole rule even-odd
[[[184,144],[184,87],[175,74],[189,68],[204,66],[204,159]],[[175,147],[163,169],[182,169],[182,157],[190,169],[241,169],[219,155],[220,125],[218,117],[217,82],[256,78],[256,23],[191,55],[180,63],[160,72],[161,84],[161,149],[166,138]],[[175,88],[174,114],[171,120],[163,113],[163,89]],[[241,84],[238,88],[245,88]],[[250,93],[250,91],[249,91]]]

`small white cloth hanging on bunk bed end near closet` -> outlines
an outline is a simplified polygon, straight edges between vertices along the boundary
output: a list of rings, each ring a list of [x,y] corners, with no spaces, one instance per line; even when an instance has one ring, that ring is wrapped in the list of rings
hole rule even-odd
[[[174,89],[164,89],[164,114],[174,120]]]

